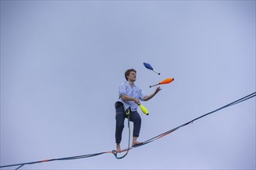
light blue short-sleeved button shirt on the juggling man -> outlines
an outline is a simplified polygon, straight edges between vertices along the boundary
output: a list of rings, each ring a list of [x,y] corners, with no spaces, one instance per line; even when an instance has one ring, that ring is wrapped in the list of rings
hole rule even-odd
[[[133,87],[131,87],[129,81],[121,83],[119,86],[119,101],[123,103],[124,110],[130,107],[130,110],[132,111],[137,110],[138,104],[136,104],[134,101],[123,100],[121,97],[124,94],[139,100],[144,100],[144,97],[147,96],[144,91],[142,91],[140,87],[137,87],[135,84],[133,84]]]

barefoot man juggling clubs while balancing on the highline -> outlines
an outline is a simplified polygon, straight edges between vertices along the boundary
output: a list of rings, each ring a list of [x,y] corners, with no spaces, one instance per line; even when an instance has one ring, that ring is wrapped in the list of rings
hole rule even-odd
[[[157,87],[154,93],[146,95],[144,91],[137,87],[134,82],[136,81],[136,70],[126,70],[124,76],[126,81],[119,86],[119,100],[116,102],[116,151],[120,152],[120,142],[122,139],[122,132],[124,127],[124,120],[126,118],[126,110],[130,108],[130,121],[133,121],[133,144],[132,146],[140,145],[142,142],[137,141],[140,134],[141,118],[137,112],[140,100],[150,100],[156,95],[161,87]]]

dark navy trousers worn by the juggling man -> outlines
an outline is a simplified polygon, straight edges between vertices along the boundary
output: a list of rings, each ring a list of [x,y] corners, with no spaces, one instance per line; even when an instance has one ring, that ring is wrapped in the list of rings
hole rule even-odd
[[[122,140],[122,132],[124,128],[124,120],[127,117],[123,104],[121,102],[116,102],[116,144],[119,144]],[[130,121],[133,122],[133,137],[139,137],[141,118],[137,111],[130,112]]]

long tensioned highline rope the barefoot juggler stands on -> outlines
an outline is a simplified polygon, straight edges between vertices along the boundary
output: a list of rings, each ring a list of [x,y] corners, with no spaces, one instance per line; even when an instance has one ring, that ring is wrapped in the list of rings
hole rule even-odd
[[[178,126],[178,127],[176,127],[176,128],[173,128],[173,129],[171,129],[171,130],[169,130],[169,131],[166,131],[166,132],[164,132],[164,133],[162,133],[162,134],[159,134],[159,135],[155,136],[154,138],[150,138],[150,139],[148,139],[147,141],[144,141],[141,145],[136,145],[136,146],[133,146],[133,147],[128,147],[128,148],[126,148],[126,149],[123,149],[123,150],[120,151],[119,153],[121,153],[121,152],[123,152],[123,151],[126,151],[126,155],[127,155],[128,151],[131,150],[131,149],[133,149],[133,148],[137,148],[137,147],[140,147],[140,146],[142,146],[142,145],[146,145],[146,144],[148,144],[148,143],[150,143],[150,142],[152,142],[152,141],[155,141],[155,140],[157,140],[157,139],[159,139],[159,138],[164,137],[164,136],[167,135],[167,134],[171,134],[171,132],[176,131],[176,130],[178,130],[179,128],[182,128],[182,127],[184,127],[184,126],[186,126],[186,125],[188,125],[188,124],[191,124],[191,123],[193,123],[194,121],[197,121],[197,120],[199,120],[199,119],[202,118],[202,117],[206,117],[207,115],[213,114],[213,113],[215,113],[216,111],[219,111],[219,110],[222,110],[222,109],[224,109],[224,108],[233,106],[233,105],[235,105],[235,104],[239,104],[240,102],[243,102],[243,101],[245,101],[245,100],[251,99],[252,97],[255,97],[255,96],[256,96],[256,92],[251,93],[251,94],[249,94],[249,95],[247,95],[247,96],[245,96],[245,97],[240,98],[239,100],[235,100],[234,102],[231,102],[230,104],[227,104],[227,105],[225,105],[225,106],[223,106],[223,107],[220,107],[220,108],[218,108],[218,109],[216,109],[216,110],[210,111],[210,112],[207,113],[207,114],[203,114],[203,115],[200,116],[200,117],[196,117],[196,118],[193,119],[192,121],[189,121],[189,122],[187,122],[187,123],[185,123],[185,124],[182,124],[182,125],[180,125],[180,126]],[[112,153],[113,155],[115,155],[116,158],[118,158],[118,157],[117,157],[117,152],[116,152],[115,150],[113,150],[113,151],[103,151],[103,152],[95,153],[95,154],[79,155],[79,156],[72,156],[72,157],[66,157],[66,158],[52,158],[52,159],[46,159],[46,160],[37,161],[37,162],[26,162],[26,163],[19,163],[19,164],[13,164],[13,165],[3,165],[3,166],[0,166],[0,168],[6,168],[6,167],[11,167],[11,166],[19,166],[18,168],[16,168],[16,169],[19,169],[19,168],[22,168],[23,165],[32,165],[32,164],[38,164],[38,163],[43,163],[43,162],[67,161],[67,160],[78,159],[78,158],[89,158],[89,157],[93,157],[93,156],[97,156],[97,155],[102,155],[102,154],[106,154],[106,153]],[[126,155],[124,155],[123,157],[119,157],[119,158],[124,158]]]

